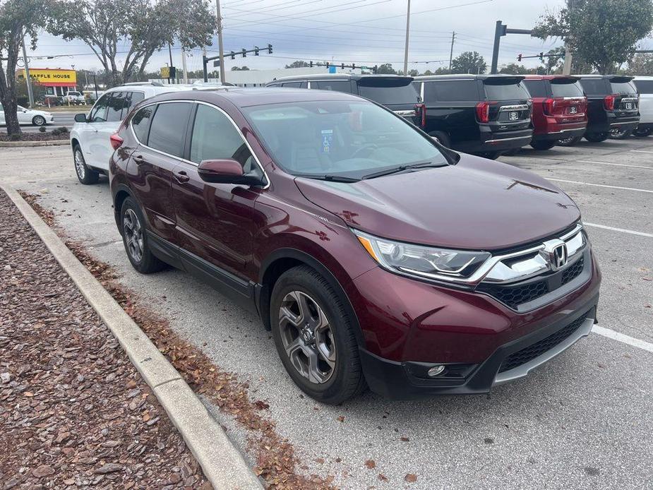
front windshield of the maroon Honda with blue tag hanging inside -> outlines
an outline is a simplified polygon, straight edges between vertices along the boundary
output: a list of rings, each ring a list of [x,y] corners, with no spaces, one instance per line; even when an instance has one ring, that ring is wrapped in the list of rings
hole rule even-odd
[[[268,152],[286,172],[360,179],[405,165],[447,165],[417,129],[371,102],[284,102],[244,107]]]

